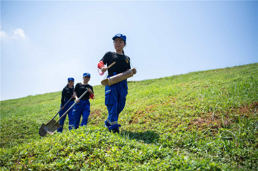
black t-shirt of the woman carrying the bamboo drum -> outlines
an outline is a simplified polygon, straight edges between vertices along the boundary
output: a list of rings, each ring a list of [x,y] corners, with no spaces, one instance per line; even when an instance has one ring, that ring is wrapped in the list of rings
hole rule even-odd
[[[107,67],[111,65],[113,62],[116,62],[112,67],[108,69],[108,72],[116,72],[122,73],[127,71],[127,69],[131,69],[130,67],[130,58],[126,55],[120,55],[116,52],[107,52],[100,60],[103,61],[104,65],[107,64]]]

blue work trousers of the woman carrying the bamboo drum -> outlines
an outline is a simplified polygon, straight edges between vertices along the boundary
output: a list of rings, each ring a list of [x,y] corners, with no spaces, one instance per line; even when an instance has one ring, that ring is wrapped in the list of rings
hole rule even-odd
[[[105,120],[105,127],[109,130],[119,129],[118,116],[125,107],[127,95],[127,80],[120,81],[111,86],[105,86],[105,105],[108,109],[108,118]]]

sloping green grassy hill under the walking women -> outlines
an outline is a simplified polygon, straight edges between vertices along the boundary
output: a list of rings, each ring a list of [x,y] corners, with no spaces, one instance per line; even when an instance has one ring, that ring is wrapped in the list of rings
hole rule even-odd
[[[119,135],[103,127],[101,85],[88,126],[68,131],[66,119],[52,136],[38,130],[59,110],[61,92],[1,101],[1,170],[257,170],[257,69],[128,81]]]

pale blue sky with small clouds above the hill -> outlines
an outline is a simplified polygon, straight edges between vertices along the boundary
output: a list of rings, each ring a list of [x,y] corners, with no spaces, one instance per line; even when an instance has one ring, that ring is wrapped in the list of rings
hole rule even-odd
[[[61,91],[84,72],[100,85],[97,63],[117,33],[137,67],[131,81],[258,62],[257,1],[0,3],[1,100]]]

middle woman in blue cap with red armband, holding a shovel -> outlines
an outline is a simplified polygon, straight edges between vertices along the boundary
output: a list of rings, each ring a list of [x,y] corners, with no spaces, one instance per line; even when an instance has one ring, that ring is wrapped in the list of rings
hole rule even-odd
[[[88,89],[88,92],[77,101],[72,110],[72,116],[74,117],[74,129],[79,128],[80,118],[82,116],[82,123],[80,126],[87,126],[88,117],[90,116],[90,101],[89,98],[94,99],[93,87],[88,84],[91,79],[91,74],[83,74],[83,82],[79,82],[74,88],[74,97],[77,101],[80,96]]]

